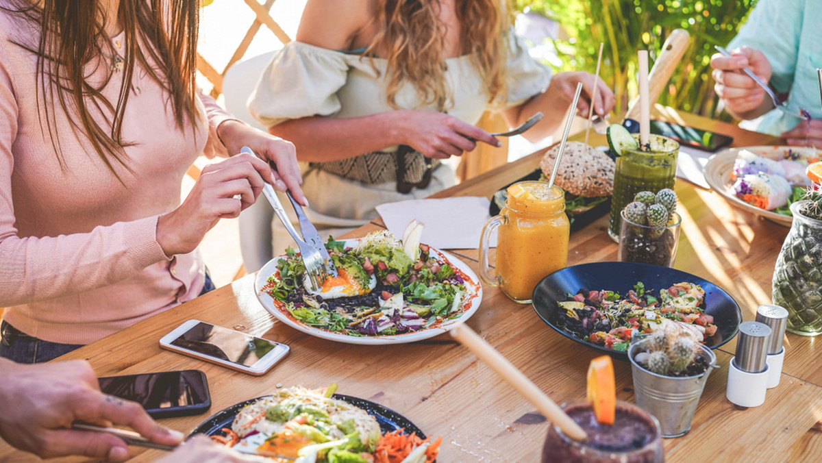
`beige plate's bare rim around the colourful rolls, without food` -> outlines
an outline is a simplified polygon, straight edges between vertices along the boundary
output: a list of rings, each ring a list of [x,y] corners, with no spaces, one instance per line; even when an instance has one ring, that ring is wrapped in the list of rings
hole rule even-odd
[[[740,150],[749,150],[757,155],[762,155],[773,160],[784,159],[788,150],[792,151],[813,151],[814,148],[806,148],[802,146],[746,146],[742,148],[730,148],[719,151],[717,154],[711,156],[708,164],[705,164],[705,180],[713,188],[713,191],[718,192],[722,197],[727,199],[733,206],[737,206],[742,210],[753,212],[756,215],[761,215],[765,219],[776,222],[779,225],[786,227],[791,226],[792,217],[787,215],[777,214],[773,211],[765,211],[752,204],[742,201],[733,194],[731,181],[731,173],[733,171],[733,162],[737,160],[737,153]]]

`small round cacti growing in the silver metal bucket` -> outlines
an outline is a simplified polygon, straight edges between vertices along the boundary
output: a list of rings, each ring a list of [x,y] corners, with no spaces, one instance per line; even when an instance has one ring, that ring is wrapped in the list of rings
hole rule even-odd
[[[636,363],[650,372],[664,376],[681,376],[700,354],[700,340],[693,331],[669,325],[640,340],[644,352],[636,354]]]

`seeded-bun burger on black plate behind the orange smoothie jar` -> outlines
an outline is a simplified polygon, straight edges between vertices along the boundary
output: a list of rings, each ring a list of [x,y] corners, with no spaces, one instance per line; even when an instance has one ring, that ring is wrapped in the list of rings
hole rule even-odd
[[[551,177],[559,145],[545,152],[539,169],[517,180],[544,180]],[[566,192],[566,214],[571,231],[588,225],[611,209],[614,160],[601,150],[581,141],[568,141],[554,180]],[[499,214],[507,199],[506,185],[494,193],[491,215]]]

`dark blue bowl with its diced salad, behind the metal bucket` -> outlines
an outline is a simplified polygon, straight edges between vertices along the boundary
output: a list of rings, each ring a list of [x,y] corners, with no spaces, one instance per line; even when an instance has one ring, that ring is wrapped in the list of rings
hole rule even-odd
[[[676,324],[711,349],[737,336],[739,305],[708,280],[665,266],[592,262],[547,275],[533,290],[538,316],[571,340],[627,360],[631,336]]]

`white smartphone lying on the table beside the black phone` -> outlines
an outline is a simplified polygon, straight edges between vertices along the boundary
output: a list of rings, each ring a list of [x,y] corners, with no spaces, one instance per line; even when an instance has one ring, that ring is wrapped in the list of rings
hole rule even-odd
[[[290,350],[273,340],[199,320],[178,326],[159,340],[159,346],[252,375],[266,373]]]

